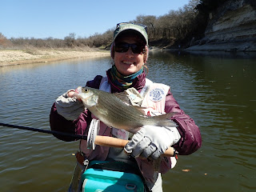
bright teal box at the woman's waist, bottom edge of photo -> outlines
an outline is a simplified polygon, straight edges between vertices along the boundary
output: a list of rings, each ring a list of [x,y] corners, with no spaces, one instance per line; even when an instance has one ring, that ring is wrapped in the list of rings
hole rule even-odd
[[[89,168],[82,174],[83,192],[144,192],[142,179],[137,174]]]

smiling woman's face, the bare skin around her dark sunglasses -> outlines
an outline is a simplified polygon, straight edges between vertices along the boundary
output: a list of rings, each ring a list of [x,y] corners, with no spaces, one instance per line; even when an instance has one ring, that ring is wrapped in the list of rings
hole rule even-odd
[[[136,38],[122,38],[118,42],[126,42],[129,44],[138,43]],[[129,48],[125,53],[114,52],[114,65],[118,72],[124,76],[135,74],[142,69],[144,65],[144,54],[134,54]]]

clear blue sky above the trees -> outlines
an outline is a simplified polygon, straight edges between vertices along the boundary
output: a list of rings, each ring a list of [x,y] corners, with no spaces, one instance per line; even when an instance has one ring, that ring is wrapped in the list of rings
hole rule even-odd
[[[138,15],[162,16],[189,0],[0,0],[0,33],[6,38],[82,38],[102,34]]]

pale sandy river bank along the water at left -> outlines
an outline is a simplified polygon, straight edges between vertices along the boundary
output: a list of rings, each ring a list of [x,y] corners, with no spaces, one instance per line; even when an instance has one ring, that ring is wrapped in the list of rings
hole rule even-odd
[[[110,56],[105,50],[0,50],[0,67],[39,62],[55,62],[74,58],[94,58]]]

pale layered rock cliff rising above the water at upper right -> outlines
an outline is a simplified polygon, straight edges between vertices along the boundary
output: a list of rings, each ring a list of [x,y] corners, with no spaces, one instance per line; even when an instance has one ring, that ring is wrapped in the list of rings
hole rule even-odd
[[[186,50],[256,52],[256,3],[230,0],[209,13],[205,37]]]

